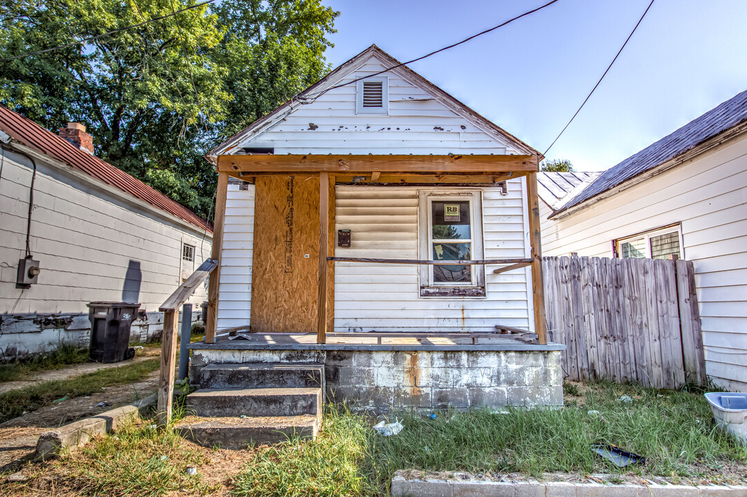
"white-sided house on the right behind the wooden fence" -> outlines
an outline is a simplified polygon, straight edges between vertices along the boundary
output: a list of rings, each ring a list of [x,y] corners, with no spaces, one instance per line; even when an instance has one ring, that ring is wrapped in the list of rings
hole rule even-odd
[[[543,199],[545,256],[692,260],[707,373],[747,391],[747,91]]]

